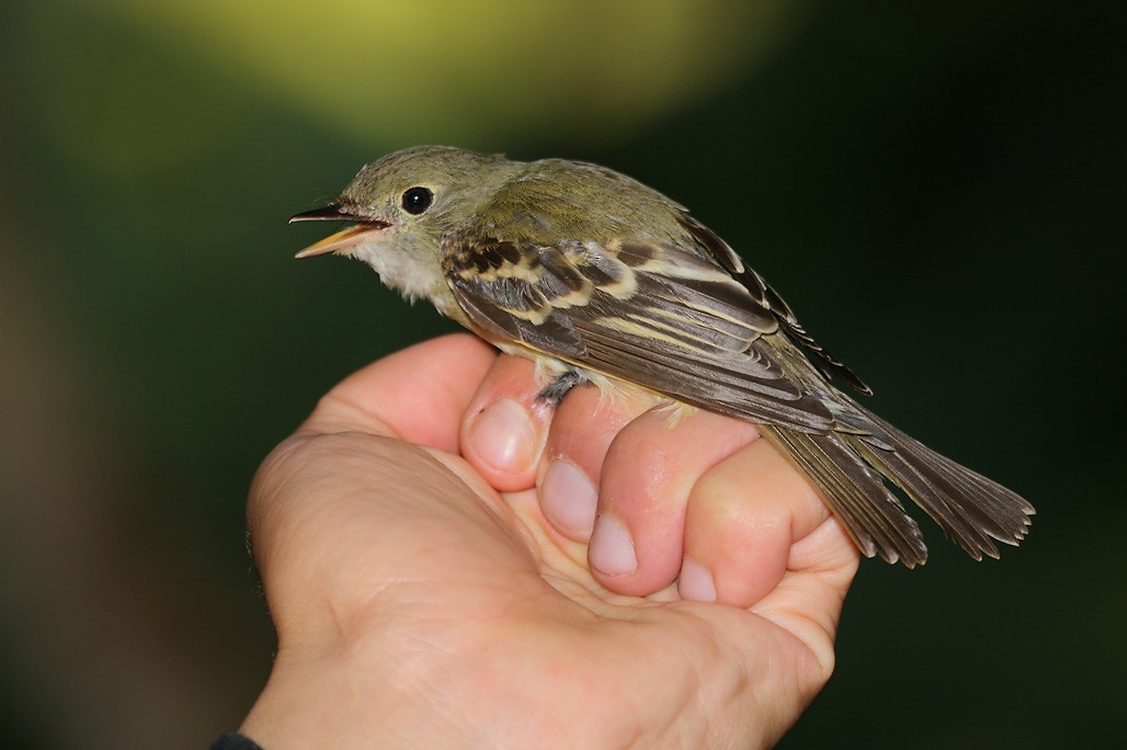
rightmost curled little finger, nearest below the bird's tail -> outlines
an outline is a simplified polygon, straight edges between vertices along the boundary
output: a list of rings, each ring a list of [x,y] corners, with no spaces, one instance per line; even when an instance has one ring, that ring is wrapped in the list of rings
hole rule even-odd
[[[771,443],[747,445],[693,488],[682,597],[749,607],[782,581],[791,546],[828,517],[806,478]]]

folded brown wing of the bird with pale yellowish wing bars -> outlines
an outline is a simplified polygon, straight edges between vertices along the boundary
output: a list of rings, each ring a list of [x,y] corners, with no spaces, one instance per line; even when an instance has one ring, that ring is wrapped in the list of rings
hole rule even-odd
[[[454,235],[443,272],[470,321],[495,343],[752,422],[833,429],[825,399],[777,347],[793,348],[780,339],[798,332],[796,344],[820,350],[722,240],[684,221],[693,231],[683,244]]]

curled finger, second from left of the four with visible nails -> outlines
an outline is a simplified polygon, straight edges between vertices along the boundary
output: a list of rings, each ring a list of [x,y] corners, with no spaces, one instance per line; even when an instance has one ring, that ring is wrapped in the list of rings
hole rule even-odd
[[[604,395],[594,386],[571,390],[552,417],[540,464],[540,506],[566,539],[591,540],[603,460],[615,435],[654,405],[638,389]],[[586,550],[583,550],[586,562]]]

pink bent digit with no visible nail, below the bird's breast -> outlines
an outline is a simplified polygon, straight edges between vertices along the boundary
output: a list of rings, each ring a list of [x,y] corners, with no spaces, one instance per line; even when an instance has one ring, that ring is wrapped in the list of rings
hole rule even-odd
[[[384,434],[456,452],[461,416],[495,359],[469,334],[417,344],[346,378],[301,429]]]

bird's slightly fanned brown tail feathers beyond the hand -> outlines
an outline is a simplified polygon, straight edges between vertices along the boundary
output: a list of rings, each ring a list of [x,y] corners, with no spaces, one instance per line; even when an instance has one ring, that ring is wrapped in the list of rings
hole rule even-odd
[[[996,482],[956,464],[852,399],[851,420],[868,430],[810,434],[762,426],[763,434],[818,487],[867,557],[907,567],[928,559],[920,527],[882,482],[887,478],[975,559],[997,557],[994,541],[1017,545],[1033,506]]]

